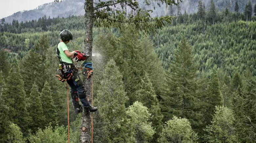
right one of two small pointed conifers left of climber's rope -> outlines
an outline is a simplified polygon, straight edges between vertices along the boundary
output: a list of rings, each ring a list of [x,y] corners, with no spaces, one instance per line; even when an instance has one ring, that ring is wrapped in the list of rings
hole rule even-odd
[[[46,118],[44,126],[48,126],[50,122],[52,122],[54,125],[56,120],[56,107],[53,102],[53,97],[48,82],[45,82],[44,87],[42,89],[41,101],[43,113]]]

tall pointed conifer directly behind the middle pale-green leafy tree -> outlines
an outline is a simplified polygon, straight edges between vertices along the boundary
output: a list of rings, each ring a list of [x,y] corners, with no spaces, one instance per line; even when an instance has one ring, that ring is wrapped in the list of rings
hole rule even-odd
[[[162,102],[162,105],[169,106],[167,111],[176,116],[190,119],[195,117],[193,109],[197,104],[196,98],[196,64],[193,58],[192,47],[188,40],[183,36],[176,51],[174,52],[174,60],[170,64],[170,74],[168,86],[170,89],[169,100]],[[169,114],[170,116],[170,114]],[[170,117],[165,117],[170,119]]]

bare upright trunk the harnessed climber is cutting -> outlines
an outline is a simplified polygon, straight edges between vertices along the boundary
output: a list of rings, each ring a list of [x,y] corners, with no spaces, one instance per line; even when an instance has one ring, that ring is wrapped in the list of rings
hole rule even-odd
[[[92,49],[93,49],[93,0],[85,0],[84,3],[85,10],[85,39],[84,39],[84,52],[86,53],[87,60],[92,60]],[[86,90],[86,97],[89,103],[91,104],[91,77],[87,79],[87,76],[84,76],[83,84]],[[90,112],[85,111],[82,113],[82,122],[80,126],[80,143],[89,143],[90,142],[90,131],[91,131],[91,115]]]

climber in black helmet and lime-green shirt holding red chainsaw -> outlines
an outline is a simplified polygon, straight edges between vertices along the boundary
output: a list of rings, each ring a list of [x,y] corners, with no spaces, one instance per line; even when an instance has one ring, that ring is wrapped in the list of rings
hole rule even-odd
[[[81,60],[81,58],[85,60],[86,56],[81,55],[78,50],[69,52],[67,43],[69,43],[70,40],[73,40],[73,35],[69,30],[65,29],[61,31],[59,35],[61,40],[56,48],[56,54],[60,62],[59,67],[61,70],[61,75],[64,79],[66,79],[67,83],[71,87],[70,92],[72,97],[72,103],[75,108],[75,113],[78,114],[82,111],[82,107],[79,105],[78,102],[78,97],[83,104],[85,110],[95,112],[98,110],[98,108],[91,106],[90,103],[87,101],[85,87],[83,86],[83,82],[72,61],[72,58],[74,57],[79,58],[79,60]]]

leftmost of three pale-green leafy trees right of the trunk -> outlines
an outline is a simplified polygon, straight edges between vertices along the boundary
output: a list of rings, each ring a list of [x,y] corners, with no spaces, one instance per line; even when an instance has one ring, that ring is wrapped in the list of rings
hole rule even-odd
[[[149,122],[152,116],[148,108],[136,101],[133,105],[129,106],[126,113],[131,122],[130,127],[135,131],[134,138],[136,138],[136,143],[150,142],[155,131],[152,127],[152,123]]]

